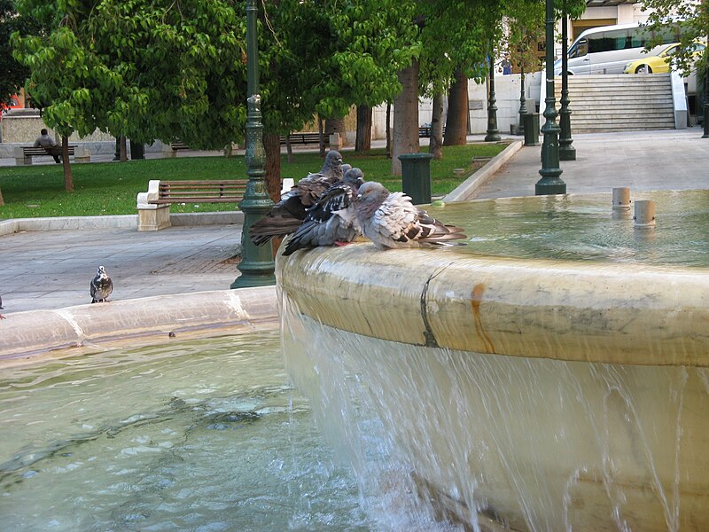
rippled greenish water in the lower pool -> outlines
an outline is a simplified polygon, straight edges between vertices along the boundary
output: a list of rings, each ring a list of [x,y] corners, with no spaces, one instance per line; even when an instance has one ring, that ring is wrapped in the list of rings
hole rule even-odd
[[[0,378],[3,530],[370,530],[277,332]]]

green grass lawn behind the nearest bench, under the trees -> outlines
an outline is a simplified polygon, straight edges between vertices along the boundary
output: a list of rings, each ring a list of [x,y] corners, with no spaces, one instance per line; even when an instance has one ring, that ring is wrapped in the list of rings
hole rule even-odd
[[[446,146],[443,160],[432,160],[432,194],[452,191],[481,163],[473,157],[494,156],[506,144],[471,144]],[[362,168],[366,179],[379,181],[392,191],[401,191],[401,177],[391,175],[391,160],[384,150],[370,153],[344,152],[343,159]],[[295,153],[294,161],[282,161],[281,176],[300,179],[316,172],[323,160],[316,153]],[[456,176],[454,168],[466,168]],[[61,165],[0,168],[0,191],[4,207],[0,219],[72,215],[132,215],[136,214],[136,195],[147,190],[151,179],[239,179],[246,177],[243,156],[177,157],[175,159],[130,160],[128,162],[93,162],[73,164],[75,192],[64,190]],[[173,205],[172,212],[231,210],[233,204]]]

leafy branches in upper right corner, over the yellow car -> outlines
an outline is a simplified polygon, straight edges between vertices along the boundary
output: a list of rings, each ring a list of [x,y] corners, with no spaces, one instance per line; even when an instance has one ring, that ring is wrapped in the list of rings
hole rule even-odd
[[[706,43],[709,37],[709,2],[687,0],[644,0],[643,11],[648,12],[647,27],[656,35],[648,49],[660,43],[660,34],[667,27],[681,28],[680,50],[672,56],[672,65],[682,74],[690,74],[695,66],[692,43],[700,39]]]

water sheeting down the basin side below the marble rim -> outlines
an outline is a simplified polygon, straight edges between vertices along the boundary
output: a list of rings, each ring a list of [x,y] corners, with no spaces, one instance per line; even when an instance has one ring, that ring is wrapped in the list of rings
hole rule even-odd
[[[383,512],[476,531],[709,526],[704,368],[424,348],[284,304],[288,372]]]

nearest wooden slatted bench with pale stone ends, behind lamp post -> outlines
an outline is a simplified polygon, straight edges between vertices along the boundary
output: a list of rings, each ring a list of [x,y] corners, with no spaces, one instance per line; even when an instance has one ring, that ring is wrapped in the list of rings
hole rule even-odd
[[[173,203],[239,203],[244,199],[248,179],[148,182],[148,191],[137,196],[138,231],[158,231],[170,227]],[[283,180],[284,191],[292,179]]]

